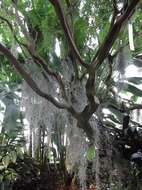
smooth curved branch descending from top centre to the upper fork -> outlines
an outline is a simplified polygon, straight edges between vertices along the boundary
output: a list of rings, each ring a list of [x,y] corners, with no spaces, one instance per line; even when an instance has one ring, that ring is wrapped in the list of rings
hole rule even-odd
[[[76,58],[78,59],[79,63],[84,66],[85,68],[88,68],[88,64],[86,64],[83,59],[81,58],[81,55],[75,45],[75,42],[72,38],[72,35],[71,35],[71,32],[70,32],[70,28],[69,28],[69,25],[68,25],[68,22],[65,18],[65,15],[64,15],[64,12],[62,10],[62,7],[59,3],[59,0],[49,0],[51,2],[51,4],[54,6],[55,8],[55,11],[56,11],[56,14],[60,20],[60,23],[61,23],[61,26],[64,30],[64,33],[65,33],[65,36],[67,38],[67,41],[69,43],[69,45],[71,46]]]

